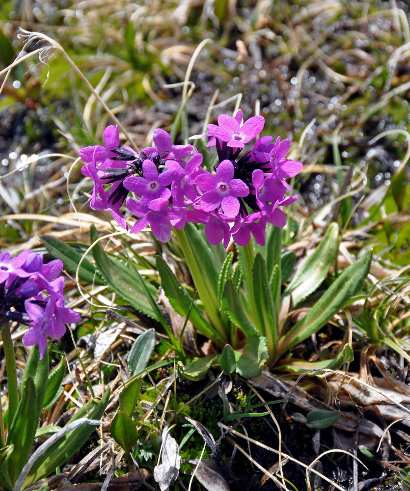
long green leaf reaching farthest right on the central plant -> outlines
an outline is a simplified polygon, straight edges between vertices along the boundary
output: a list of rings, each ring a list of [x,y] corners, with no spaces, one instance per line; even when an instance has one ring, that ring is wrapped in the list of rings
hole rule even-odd
[[[278,357],[323,327],[360,291],[370,271],[372,251],[367,251],[333,281],[306,316],[279,341]]]

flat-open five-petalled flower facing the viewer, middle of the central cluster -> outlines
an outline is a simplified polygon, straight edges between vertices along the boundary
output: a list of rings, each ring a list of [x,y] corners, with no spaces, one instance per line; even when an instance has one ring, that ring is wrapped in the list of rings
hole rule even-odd
[[[204,173],[196,179],[196,185],[205,191],[201,197],[201,208],[212,211],[221,206],[228,217],[236,217],[239,213],[239,197],[247,196],[249,188],[241,179],[234,179],[234,166],[231,161],[222,161],[217,168],[217,175]]]

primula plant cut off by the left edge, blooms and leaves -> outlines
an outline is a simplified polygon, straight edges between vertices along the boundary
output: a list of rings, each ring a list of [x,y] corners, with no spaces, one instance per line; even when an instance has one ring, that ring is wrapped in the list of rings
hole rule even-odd
[[[18,481],[37,434],[41,411],[54,401],[64,376],[64,362],[49,376],[47,336],[59,340],[66,331],[64,324],[80,319],[77,312],[64,306],[62,268],[63,263],[59,259],[45,264],[43,254],[31,250],[16,257],[10,257],[8,252],[0,254],[0,330],[8,395],[8,408],[0,416],[0,487],[5,490],[13,489]],[[28,326],[23,344],[34,345],[20,388],[10,322]],[[95,416],[102,414],[106,402],[99,405]],[[52,452],[43,452],[35,468],[31,472],[27,470],[20,486],[23,481],[26,484],[35,482],[54,470],[56,465],[63,464],[83,444],[84,436],[89,435],[87,431],[80,432],[82,435],[71,434],[71,448],[66,442],[60,442]]]

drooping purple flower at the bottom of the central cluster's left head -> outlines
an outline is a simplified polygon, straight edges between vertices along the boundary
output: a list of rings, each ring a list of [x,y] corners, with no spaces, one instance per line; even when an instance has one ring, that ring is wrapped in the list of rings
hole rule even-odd
[[[186,223],[186,208],[171,208],[169,201],[157,198],[151,201],[127,198],[127,207],[133,215],[139,218],[131,229],[131,233],[139,232],[146,226],[160,242],[168,242],[171,238],[171,223],[174,227],[182,229]]]

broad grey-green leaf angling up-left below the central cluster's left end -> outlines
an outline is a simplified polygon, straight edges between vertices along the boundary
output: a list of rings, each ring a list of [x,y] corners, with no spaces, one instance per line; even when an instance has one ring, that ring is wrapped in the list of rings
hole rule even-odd
[[[130,271],[130,266],[115,256],[109,256],[101,244],[96,242],[98,240],[98,233],[93,224],[90,226],[90,240],[94,244],[92,254],[95,264],[107,282],[107,286],[121,298],[129,302],[138,312],[152,319],[159,320],[157,313],[149,304],[138,278]],[[145,281],[150,293],[156,298],[156,288],[146,280],[143,279],[143,281]]]

